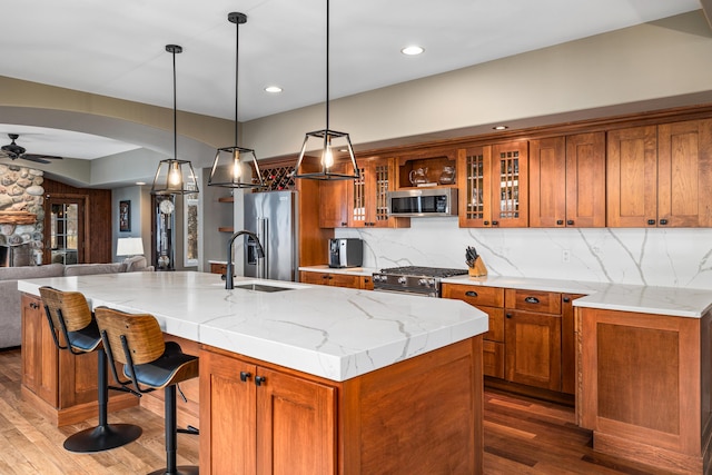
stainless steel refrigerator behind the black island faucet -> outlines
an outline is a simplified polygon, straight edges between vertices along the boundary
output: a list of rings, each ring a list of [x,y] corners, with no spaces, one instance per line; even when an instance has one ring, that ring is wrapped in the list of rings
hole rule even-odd
[[[299,235],[296,191],[245,194],[245,229],[257,235],[265,257],[257,257],[257,245],[248,237],[245,244],[246,277],[297,280]]]

